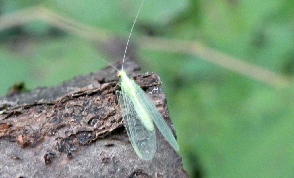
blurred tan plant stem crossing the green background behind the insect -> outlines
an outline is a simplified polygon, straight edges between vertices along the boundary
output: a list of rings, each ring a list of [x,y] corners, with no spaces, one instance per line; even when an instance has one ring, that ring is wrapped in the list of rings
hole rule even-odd
[[[27,8],[11,14],[0,16],[0,31],[14,26],[20,26],[34,20],[46,21],[56,28],[76,34],[92,41],[106,43],[114,39],[115,35],[96,27],[82,24],[73,19],[56,14],[42,6]],[[248,76],[275,88],[289,86],[290,76],[277,74],[260,66],[236,59],[220,51],[211,49],[197,41],[182,41],[174,39],[163,39],[149,36],[139,36],[137,44],[142,49],[160,50],[172,53],[193,54],[201,59],[216,64],[238,74]]]

